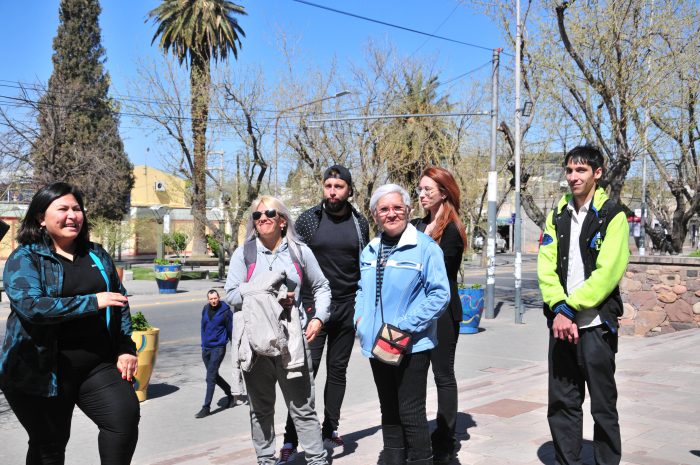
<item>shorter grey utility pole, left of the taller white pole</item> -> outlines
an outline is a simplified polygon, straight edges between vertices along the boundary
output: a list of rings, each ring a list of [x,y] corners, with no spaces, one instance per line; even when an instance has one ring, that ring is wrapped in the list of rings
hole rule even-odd
[[[502,49],[493,51],[493,71],[491,75],[491,162],[488,176],[488,240],[486,267],[486,318],[494,318],[496,297],[496,215],[498,199],[498,175],[496,173],[496,149],[498,130],[498,68]],[[482,246],[483,247],[483,246]]]

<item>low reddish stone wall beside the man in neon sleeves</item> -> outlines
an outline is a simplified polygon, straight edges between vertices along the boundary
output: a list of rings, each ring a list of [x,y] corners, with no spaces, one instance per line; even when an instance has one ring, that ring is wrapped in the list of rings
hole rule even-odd
[[[700,258],[632,256],[620,292],[620,334],[654,336],[700,326]]]

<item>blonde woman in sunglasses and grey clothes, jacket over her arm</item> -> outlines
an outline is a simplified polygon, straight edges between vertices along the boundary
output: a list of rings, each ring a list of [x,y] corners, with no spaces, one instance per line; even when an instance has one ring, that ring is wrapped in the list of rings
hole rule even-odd
[[[321,425],[316,415],[307,343],[316,337],[323,323],[328,320],[331,298],[328,280],[323,276],[311,250],[297,238],[287,207],[274,197],[262,196],[253,202],[246,228],[246,243],[247,245],[238,247],[231,257],[224,292],[227,302],[234,310],[232,354],[238,359],[234,359],[234,364],[242,362],[257,463],[275,463],[275,384],[279,383],[299,435],[299,444],[304,449],[306,463],[325,465],[328,462],[321,438]],[[249,251],[254,247],[253,257],[246,253],[246,247]],[[287,288],[283,295],[278,293],[281,279]],[[277,292],[273,293],[273,289]],[[262,318],[246,316],[246,312],[251,311],[252,300],[259,299],[261,292],[273,293],[274,298],[264,296],[267,297],[267,302],[272,303],[265,308],[256,309],[259,311],[256,316],[276,312],[280,319],[289,321],[287,336],[290,343],[287,349],[282,349],[280,355],[263,355],[274,352],[275,347],[263,350],[256,346],[257,349],[251,350],[246,346],[246,334],[259,334],[260,331],[269,329],[259,326]],[[302,292],[314,296],[315,314],[309,317],[308,322],[301,306]],[[256,324],[253,320],[258,321],[258,326],[253,327]],[[250,327],[237,329],[236,325]],[[291,343],[295,333],[301,335],[301,354],[294,353]],[[243,334],[243,339],[235,340],[236,334]],[[290,368],[290,359],[294,360],[299,355],[301,366]]]

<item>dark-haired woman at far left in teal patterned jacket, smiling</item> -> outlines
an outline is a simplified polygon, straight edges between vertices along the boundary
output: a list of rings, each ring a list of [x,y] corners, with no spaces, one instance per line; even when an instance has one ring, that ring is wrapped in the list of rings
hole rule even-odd
[[[140,410],[129,303],[109,254],[89,241],[80,191],[40,189],[17,241],[3,275],[0,388],[29,435],[26,463],[65,462],[76,405],[99,428],[101,463],[131,463]]]

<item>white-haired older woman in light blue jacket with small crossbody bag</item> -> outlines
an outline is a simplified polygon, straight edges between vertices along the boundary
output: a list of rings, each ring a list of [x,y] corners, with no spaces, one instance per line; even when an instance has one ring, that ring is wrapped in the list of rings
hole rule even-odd
[[[379,394],[386,465],[433,463],[426,385],[437,319],[450,300],[442,250],[409,223],[410,201],[396,184],[372,194],[370,210],[381,233],[360,255],[355,300],[355,327]],[[409,336],[400,340],[400,359],[397,346],[375,342],[385,325]],[[406,339],[410,343],[401,349]]]

